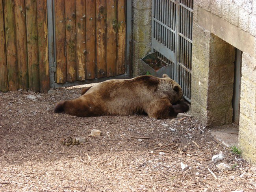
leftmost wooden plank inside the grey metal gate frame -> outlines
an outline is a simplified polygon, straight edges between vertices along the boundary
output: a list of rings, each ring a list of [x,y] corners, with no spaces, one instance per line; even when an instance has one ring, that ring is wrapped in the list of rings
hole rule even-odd
[[[65,0],[54,0],[56,31],[56,83],[67,81]]]

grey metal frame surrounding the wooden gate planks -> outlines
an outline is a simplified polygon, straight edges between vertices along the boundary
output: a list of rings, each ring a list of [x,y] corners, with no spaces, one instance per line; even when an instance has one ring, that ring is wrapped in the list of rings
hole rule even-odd
[[[127,79],[132,74],[132,1],[126,0],[126,50],[125,50],[125,74],[113,77],[85,79],[84,81],[74,81],[66,83],[55,83],[55,68],[56,68],[56,42],[55,42],[55,15],[54,15],[54,0],[47,0],[47,22],[48,22],[48,54],[49,54],[49,70],[50,70],[50,88],[70,87],[74,85],[83,85],[89,83],[98,83],[108,79]]]

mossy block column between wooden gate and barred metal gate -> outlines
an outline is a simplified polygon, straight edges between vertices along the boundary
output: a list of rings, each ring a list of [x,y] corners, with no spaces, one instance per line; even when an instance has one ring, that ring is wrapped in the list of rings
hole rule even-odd
[[[145,75],[141,58],[151,52],[152,0],[132,0],[132,75]]]

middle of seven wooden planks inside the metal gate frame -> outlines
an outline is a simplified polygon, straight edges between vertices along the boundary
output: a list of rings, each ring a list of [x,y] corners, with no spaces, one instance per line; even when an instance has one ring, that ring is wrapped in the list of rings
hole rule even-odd
[[[95,78],[95,0],[86,0],[86,79]]]

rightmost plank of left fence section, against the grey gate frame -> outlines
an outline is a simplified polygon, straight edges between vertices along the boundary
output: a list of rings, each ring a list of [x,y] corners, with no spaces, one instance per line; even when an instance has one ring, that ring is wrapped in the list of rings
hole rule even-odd
[[[47,4],[46,0],[40,0],[36,2],[40,92],[46,92],[50,89]]]

